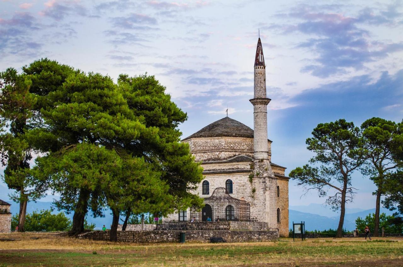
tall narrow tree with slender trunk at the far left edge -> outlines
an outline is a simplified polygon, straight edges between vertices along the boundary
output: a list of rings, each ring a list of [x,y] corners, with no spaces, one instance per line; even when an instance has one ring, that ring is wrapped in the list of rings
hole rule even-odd
[[[0,73],[0,161],[4,169],[4,182],[16,190],[12,200],[25,203],[43,196],[46,183],[37,183],[31,176],[29,161],[32,144],[27,131],[34,127],[33,107],[37,98],[29,92],[32,81],[15,69]],[[20,231],[24,231],[26,209],[20,210]]]

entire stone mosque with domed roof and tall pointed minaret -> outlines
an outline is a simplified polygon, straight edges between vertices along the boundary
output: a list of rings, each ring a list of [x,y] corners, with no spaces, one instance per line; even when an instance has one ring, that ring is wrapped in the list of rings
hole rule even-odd
[[[254,64],[253,129],[224,117],[183,139],[204,179],[193,193],[204,198],[202,211],[187,209],[164,221],[249,221],[288,236],[288,181],[285,167],[271,161],[267,135],[266,65],[258,39]]]

